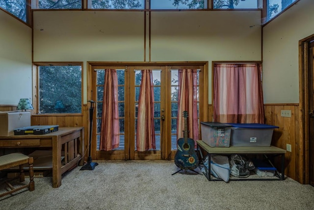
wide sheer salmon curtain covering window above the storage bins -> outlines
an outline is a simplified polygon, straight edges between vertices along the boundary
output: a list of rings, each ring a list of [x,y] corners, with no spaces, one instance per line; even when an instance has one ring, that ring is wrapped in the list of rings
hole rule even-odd
[[[213,120],[264,124],[261,77],[258,63],[215,63]]]

